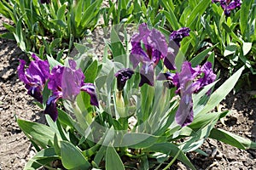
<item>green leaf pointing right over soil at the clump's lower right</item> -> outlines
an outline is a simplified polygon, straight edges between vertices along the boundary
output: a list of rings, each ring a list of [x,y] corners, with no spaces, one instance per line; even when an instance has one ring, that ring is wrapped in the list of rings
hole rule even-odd
[[[256,149],[255,142],[251,141],[250,139],[242,138],[241,136],[238,136],[234,133],[229,133],[224,129],[212,128],[212,131],[209,137],[212,139],[217,139],[219,141],[222,141],[225,144],[233,145],[236,148],[239,148],[241,150]]]

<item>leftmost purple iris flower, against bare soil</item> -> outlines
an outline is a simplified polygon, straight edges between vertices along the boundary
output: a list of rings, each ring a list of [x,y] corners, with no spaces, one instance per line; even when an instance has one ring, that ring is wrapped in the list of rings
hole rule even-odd
[[[20,59],[18,66],[18,75],[25,88],[28,90],[27,94],[37,99],[38,102],[43,103],[43,89],[44,84],[49,77],[49,63],[47,60],[39,59],[36,54],[32,54],[33,60],[28,68],[25,70],[26,61]]]

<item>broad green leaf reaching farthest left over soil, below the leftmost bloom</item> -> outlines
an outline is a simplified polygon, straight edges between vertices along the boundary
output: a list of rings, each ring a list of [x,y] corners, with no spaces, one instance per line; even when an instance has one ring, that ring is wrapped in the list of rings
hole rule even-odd
[[[20,129],[26,134],[26,137],[42,148],[46,148],[47,145],[53,145],[55,132],[48,126],[38,122],[27,122],[21,119],[18,119],[17,122]]]

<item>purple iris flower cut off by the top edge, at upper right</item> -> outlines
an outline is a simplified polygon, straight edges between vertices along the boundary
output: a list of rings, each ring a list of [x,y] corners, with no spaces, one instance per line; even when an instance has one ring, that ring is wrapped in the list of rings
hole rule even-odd
[[[230,16],[230,11],[235,8],[240,8],[241,0],[212,0],[212,3],[220,3],[224,9],[224,14]]]

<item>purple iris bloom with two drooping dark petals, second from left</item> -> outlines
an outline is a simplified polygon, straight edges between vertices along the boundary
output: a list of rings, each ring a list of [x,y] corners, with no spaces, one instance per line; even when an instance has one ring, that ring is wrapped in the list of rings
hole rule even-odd
[[[74,60],[68,60],[70,67],[55,66],[49,76],[48,88],[53,95],[46,102],[45,114],[49,114],[53,121],[56,121],[58,111],[56,102],[58,99],[68,99],[74,102],[80,91],[90,94],[90,104],[98,106],[96,99],[96,88],[92,83],[84,83],[84,74],[81,69],[76,69]]]

